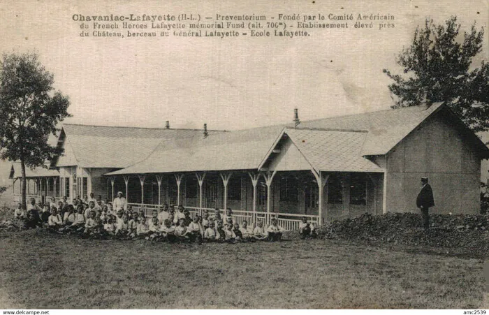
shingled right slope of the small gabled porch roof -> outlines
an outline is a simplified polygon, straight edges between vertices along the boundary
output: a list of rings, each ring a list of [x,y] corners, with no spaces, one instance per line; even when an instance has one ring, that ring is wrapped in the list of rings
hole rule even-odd
[[[360,154],[368,135],[366,131],[287,128],[284,134],[316,171],[384,172]]]

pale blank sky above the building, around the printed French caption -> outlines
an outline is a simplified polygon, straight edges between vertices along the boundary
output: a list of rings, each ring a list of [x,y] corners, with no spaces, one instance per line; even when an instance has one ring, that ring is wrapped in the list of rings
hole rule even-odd
[[[1,51],[33,52],[69,96],[65,122],[247,129],[388,109],[395,59],[427,17],[488,27],[488,1],[2,1]],[[390,14],[394,28],[305,38],[84,38],[73,14]],[[333,21],[325,21],[333,22]],[[489,32],[486,32],[486,47]],[[484,49],[477,62],[488,60]],[[0,178],[3,173],[0,173]]]

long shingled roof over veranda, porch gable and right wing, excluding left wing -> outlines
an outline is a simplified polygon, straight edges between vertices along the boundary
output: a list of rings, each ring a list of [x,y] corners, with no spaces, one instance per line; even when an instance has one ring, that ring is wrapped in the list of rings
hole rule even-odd
[[[380,172],[364,156],[387,154],[442,107],[435,103],[316,119],[295,129],[286,124],[162,141],[147,159],[108,175],[256,170],[284,132],[316,170]]]

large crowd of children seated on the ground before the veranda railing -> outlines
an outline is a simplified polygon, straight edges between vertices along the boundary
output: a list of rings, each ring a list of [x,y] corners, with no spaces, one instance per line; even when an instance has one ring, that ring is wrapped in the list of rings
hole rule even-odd
[[[121,207],[113,210],[111,203],[78,202],[68,204],[66,199],[59,201],[58,206],[36,205],[34,198],[27,213],[18,205],[14,212],[17,219],[24,219],[27,228],[44,226],[52,233],[78,233],[85,237],[115,237],[131,240],[144,238],[152,241],[168,242],[256,242],[257,240],[279,241],[284,228],[278,225],[274,217],[267,228],[263,221],[258,221],[256,227],[249,226],[247,221],[242,224],[233,223],[231,208],[226,209],[224,218],[221,211],[216,209],[211,217],[208,210],[203,215],[194,215],[192,219],[189,210],[182,205],[168,207],[164,204],[161,211],[152,211],[151,217],[146,217],[143,210],[134,212],[131,205],[127,209]],[[314,226],[302,217],[300,223],[301,238],[314,237]]]

